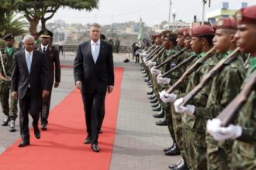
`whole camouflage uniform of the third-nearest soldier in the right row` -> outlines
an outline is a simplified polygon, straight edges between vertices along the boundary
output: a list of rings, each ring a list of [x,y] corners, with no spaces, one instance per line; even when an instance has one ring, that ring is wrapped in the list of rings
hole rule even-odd
[[[201,53],[200,56],[204,56],[205,53]],[[198,70],[195,70],[189,76],[189,83],[186,89],[186,93],[189,93],[201,80],[202,77],[213,68],[218,62],[215,55],[212,55],[206,60]],[[211,83],[208,83],[206,87],[199,91],[199,93],[192,100],[192,104],[195,107],[206,107],[207,98]],[[185,138],[184,151],[186,158],[189,158],[189,168],[191,169],[207,169],[206,159],[206,121],[197,115],[189,116],[183,114],[182,116],[182,128],[183,136]]]

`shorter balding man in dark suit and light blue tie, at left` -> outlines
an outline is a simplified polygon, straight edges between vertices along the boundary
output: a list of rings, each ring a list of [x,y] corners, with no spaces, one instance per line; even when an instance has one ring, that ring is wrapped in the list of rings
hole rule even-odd
[[[19,99],[19,126],[24,147],[29,141],[29,114],[33,118],[35,137],[40,139],[38,128],[42,97],[49,95],[49,66],[44,53],[35,49],[33,36],[23,39],[25,49],[14,54],[12,63],[12,97]]]

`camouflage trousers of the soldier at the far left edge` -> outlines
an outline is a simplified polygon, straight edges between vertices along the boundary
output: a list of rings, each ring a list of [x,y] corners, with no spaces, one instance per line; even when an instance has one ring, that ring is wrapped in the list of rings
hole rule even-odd
[[[9,107],[9,96],[11,97],[11,104]],[[11,120],[16,120],[18,112],[18,100],[12,98],[9,84],[0,84],[0,102],[2,105],[2,112],[6,116],[10,117]]]

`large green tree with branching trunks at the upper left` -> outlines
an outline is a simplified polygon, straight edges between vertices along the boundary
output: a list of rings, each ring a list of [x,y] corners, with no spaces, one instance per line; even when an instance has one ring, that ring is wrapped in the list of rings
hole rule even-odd
[[[36,32],[40,20],[42,29],[46,29],[47,20],[51,19],[59,8],[91,11],[98,8],[99,0],[2,0],[2,5],[22,12],[29,21],[29,31],[33,33]]]

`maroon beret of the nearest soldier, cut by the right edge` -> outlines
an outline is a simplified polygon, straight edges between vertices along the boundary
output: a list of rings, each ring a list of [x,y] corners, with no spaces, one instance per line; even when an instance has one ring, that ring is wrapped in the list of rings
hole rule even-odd
[[[256,24],[256,5],[241,8],[234,15],[237,24]]]

